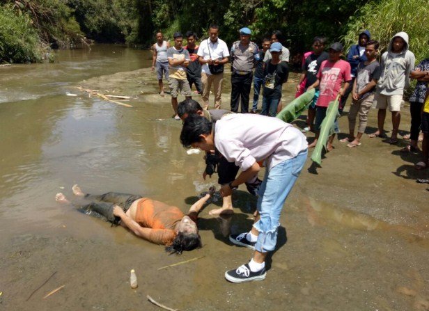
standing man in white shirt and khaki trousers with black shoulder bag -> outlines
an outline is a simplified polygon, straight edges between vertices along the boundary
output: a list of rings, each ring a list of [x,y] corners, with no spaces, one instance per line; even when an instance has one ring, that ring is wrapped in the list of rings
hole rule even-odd
[[[204,109],[208,109],[208,97],[213,84],[214,108],[221,108],[221,90],[224,80],[224,64],[228,63],[229,51],[226,43],[218,38],[219,26],[211,25],[208,31],[209,39],[200,43],[198,61],[201,67],[201,82],[203,83]]]

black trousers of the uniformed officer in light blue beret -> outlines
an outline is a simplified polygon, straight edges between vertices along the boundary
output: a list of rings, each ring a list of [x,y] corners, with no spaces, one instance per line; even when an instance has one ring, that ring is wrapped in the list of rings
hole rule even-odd
[[[231,111],[237,113],[241,99],[241,113],[249,112],[249,94],[253,73],[237,74],[233,72],[231,76]]]

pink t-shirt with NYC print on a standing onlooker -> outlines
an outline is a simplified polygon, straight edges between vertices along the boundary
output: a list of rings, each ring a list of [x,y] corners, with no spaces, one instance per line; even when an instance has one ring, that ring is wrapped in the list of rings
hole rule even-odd
[[[329,106],[329,102],[335,100],[338,92],[341,89],[341,83],[350,81],[350,64],[340,59],[335,63],[331,61],[322,61],[317,75],[320,80],[319,84],[319,99],[315,104],[320,107]]]

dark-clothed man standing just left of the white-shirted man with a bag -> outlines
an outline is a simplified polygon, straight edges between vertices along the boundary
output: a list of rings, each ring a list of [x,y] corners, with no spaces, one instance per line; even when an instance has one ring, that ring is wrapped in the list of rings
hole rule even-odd
[[[203,93],[203,84],[201,83],[201,63],[198,61],[198,45],[195,45],[198,40],[194,31],[188,31],[186,33],[187,45],[184,49],[189,52],[191,61],[186,68],[186,76],[189,82],[189,87],[192,88],[192,84],[195,84],[196,91],[198,94]]]

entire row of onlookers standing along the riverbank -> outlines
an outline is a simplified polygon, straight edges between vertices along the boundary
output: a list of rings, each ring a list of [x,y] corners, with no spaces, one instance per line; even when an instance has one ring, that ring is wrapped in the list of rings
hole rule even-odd
[[[186,98],[191,98],[191,88],[194,84],[196,93],[201,94],[203,108],[209,108],[209,95],[214,95],[214,109],[221,109],[221,90],[224,81],[224,65],[231,62],[231,105],[228,110],[241,113],[257,113],[260,94],[263,94],[263,115],[275,116],[282,109],[282,85],[288,81],[290,51],[281,45],[281,31],[273,31],[270,37],[263,39],[262,47],[258,47],[251,39],[251,29],[243,27],[239,30],[240,40],[233,42],[228,49],[226,42],[219,38],[219,26],[212,24],[208,29],[208,39],[201,40],[196,45],[198,37],[194,31],[185,34],[187,45],[182,47],[181,33],[174,35],[174,47],[164,41],[162,33],[157,33],[157,42],[153,45],[153,70],[157,68],[159,93],[164,96],[162,75],[169,81],[171,103],[174,118],[180,120],[177,112],[177,96],[180,92]],[[417,142],[425,136],[426,118],[423,118],[423,104],[429,79],[429,59],[425,59],[414,67],[414,54],[409,51],[407,33],[393,35],[389,47],[379,57],[380,43],[371,40],[370,31],[359,34],[356,45],[352,45],[345,60],[343,45],[339,42],[329,45],[326,49],[326,39],[315,37],[313,50],[308,51],[302,58],[302,74],[297,83],[297,96],[306,90],[315,88],[315,97],[307,113],[307,126],[304,133],[313,131],[314,141],[309,147],[314,147],[318,141],[318,132],[325,118],[329,102],[339,95],[339,112],[345,107],[348,97],[352,103],[348,113],[349,136],[341,139],[348,147],[361,145],[361,138],[368,123],[368,113],[371,106],[376,106],[377,131],[368,135],[369,138],[384,137],[384,122],[386,111],[391,111],[393,130],[389,143],[398,143],[400,125],[400,108],[403,105],[404,90],[409,87],[410,79],[416,79],[414,93],[409,97],[412,122],[409,145],[401,152],[419,152]],[[167,55],[170,50],[170,56]],[[377,59],[380,58],[380,62]],[[180,59],[180,61],[177,61]],[[169,77],[169,70],[176,72]],[[177,74],[182,72],[182,74]],[[179,77],[180,76],[180,77]],[[253,103],[249,109],[249,95],[253,83]],[[213,88],[212,88],[213,86]],[[354,135],[358,122],[357,134]],[[423,122],[423,123],[422,123]],[[336,122],[336,133],[339,131]],[[419,135],[419,133],[422,133]],[[332,149],[334,136],[329,137],[327,150]],[[428,159],[427,143],[423,143],[423,161],[416,164],[417,169],[426,168]]]

